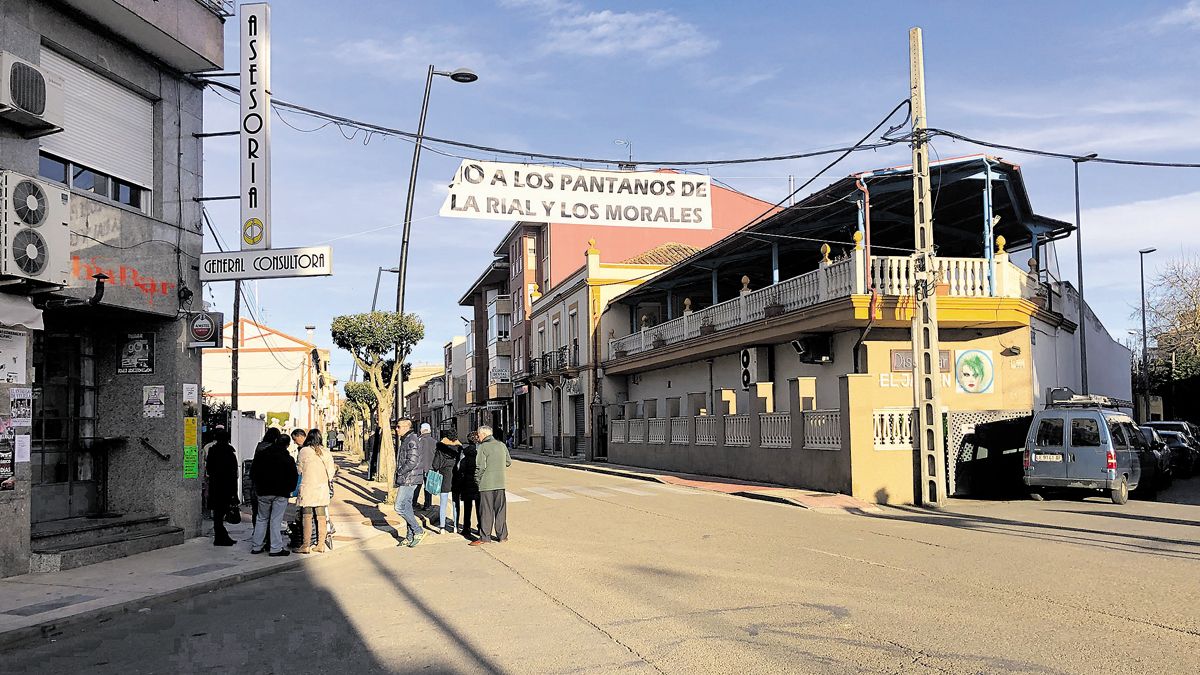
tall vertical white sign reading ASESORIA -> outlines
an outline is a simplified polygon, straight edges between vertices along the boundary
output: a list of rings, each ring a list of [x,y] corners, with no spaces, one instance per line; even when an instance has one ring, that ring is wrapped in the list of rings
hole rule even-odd
[[[271,7],[241,6],[241,250],[271,247]]]

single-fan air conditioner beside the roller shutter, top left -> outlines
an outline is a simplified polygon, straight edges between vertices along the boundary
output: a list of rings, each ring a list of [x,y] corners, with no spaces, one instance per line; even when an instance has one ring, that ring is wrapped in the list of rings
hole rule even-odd
[[[62,77],[0,52],[0,119],[36,138],[62,131]]]

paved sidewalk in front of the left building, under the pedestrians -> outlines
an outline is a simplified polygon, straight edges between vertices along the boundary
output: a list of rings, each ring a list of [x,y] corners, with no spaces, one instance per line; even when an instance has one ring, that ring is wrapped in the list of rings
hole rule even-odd
[[[398,519],[394,513],[386,518],[380,509],[383,491],[366,480],[358,465],[335,456],[340,471],[330,502],[336,531],[331,552],[286,557],[250,555],[250,507],[244,506],[241,524],[228,526],[230,536],[238,540],[234,546],[214,546],[212,522],[205,520],[205,536],[178,546],[65,572],[0,579],[0,649],[31,638],[53,638],[73,625],[151,611],[155,605],[310,565],[358,549],[368,539],[394,536],[391,524]],[[289,518],[292,509],[294,507],[289,508]]]

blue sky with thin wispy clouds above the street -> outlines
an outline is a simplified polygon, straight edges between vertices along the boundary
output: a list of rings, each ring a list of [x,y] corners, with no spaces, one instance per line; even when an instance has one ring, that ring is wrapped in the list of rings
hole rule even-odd
[[[226,68],[238,68],[236,22]],[[728,2],[586,0],[277,0],[272,94],[415,131],[425,73],[469,67],[479,80],[434,78],[426,133],[571,156],[707,160],[850,144],[908,95],[908,29],[924,31],[930,126],[1009,145],[1154,161],[1200,161],[1200,0],[1166,2]],[[236,84],[236,79],[228,79]],[[234,100],[205,95],[205,129],[238,126]],[[334,275],[248,283],[253,315],[304,336],[368,311],[377,270],[395,267],[413,145],[350,138],[288,112],[272,123],[272,245],[334,246]],[[210,196],[238,192],[234,138],[205,141]],[[979,153],[940,138],[938,156]],[[1069,161],[994,151],[1020,163],[1033,208],[1074,221]],[[490,157],[470,153],[478,159]],[[857,153],[808,191],[854,172],[908,163],[904,145]],[[713,168],[751,196],[784,198],[828,159]],[[440,363],[463,333],[457,305],[511,223],[437,215],[457,157],[422,151],[406,310],[425,321],[413,360]],[[653,168],[653,167],[650,167]],[[808,192],[805,191],[805,192]],[[799,195],[803,197],[804,193]],[[1200,250],[1200,169],[1081,167],[1086,297],[1118,340],[1136,323],[1136,251],[1147,277]],[[227,246],[236,202],[209,202]],[[212,238],[206,250],[216,250]],[[1075,277],[1074,240],[1058,249]],[[379,307],[395,307],[384,274]],[[230,316],[233,283],[205,300]],[[334,350],[344,381],[347,353]]]

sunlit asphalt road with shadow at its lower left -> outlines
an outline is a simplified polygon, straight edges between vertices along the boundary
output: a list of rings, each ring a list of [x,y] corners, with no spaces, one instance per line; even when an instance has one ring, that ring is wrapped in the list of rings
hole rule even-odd
[[[517,462],[508,543],[380,538],[0,669],[1194,673],[1198,484],[864,516]]]

